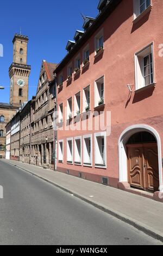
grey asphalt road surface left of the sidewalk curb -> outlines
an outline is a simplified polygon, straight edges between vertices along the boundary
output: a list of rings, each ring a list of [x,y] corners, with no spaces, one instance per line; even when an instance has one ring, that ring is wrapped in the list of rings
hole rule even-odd
[[[162,245],[1,160],[0,185],[0,245]]]

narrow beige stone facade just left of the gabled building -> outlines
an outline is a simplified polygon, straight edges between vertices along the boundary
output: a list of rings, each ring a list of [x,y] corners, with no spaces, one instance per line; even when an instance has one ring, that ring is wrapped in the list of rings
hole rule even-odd
[[[20,112],[20,161],[30,163],[30,111],[32,101],[22,107]]]

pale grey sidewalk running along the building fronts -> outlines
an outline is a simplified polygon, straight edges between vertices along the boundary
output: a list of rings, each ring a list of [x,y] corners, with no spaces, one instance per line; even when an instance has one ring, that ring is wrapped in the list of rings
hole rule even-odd
[[[163,242],[163,204],[146,197],[13,160],[19,167]],[[55,196],[55,195],[54,195]]]

